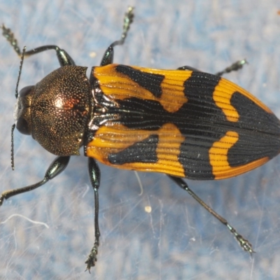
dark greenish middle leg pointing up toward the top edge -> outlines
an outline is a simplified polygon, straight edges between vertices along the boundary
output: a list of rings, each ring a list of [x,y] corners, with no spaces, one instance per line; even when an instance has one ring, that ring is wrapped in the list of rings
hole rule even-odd
[[[113,52],[114,52],[113,48],[116,45],[123,45],[123,43],[125,43],[125,38],[127,37],[127,32],[130,29],[130,25],[133,22],[133,18],[134,18],[133,8],[128,7],[127,12],[125,13],[125,18],[124,18],[124,22],[123,22],[123,34],[120,37],[120,40],[111,43],[111,45],[109,45],[109,48],[106,49],[106,51],[102,57],[100,66],[105,66],[105,65],[113,63]]]

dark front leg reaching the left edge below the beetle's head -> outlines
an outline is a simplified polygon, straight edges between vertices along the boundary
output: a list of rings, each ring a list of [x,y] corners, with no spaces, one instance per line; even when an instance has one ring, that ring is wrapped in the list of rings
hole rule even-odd
[[[3,200],[8,200],[9,197],[13,197],[14,195],[19,195],[20,193],[29,192],[29,190],[34,190],[38,187],[43,186],[49,180],[55,178],[58,174],[60,174],[68,165],[70,157],[57,157],[48,167],[47,172],[45,172],[45,176],[42,181],[35,183],[34,185],[27,186],[24,188],[16,188],[15,190],[6,190],[1,193],[0,196],[0,206],[3,204]]]

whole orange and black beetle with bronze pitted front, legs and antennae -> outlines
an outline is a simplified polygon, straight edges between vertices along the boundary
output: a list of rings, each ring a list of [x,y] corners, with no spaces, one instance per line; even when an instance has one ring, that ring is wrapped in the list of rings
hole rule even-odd
[[[2,26],[3,35],[22,56],[20,73],[23,57],[45,50],[55,50],[61,67],[18,94],[19,73],[12,167],[15,127],[57,158],[42,181],[4,191],[0,206],[3,200],[55,178],[83,147],[94,190],[95,241],[85,261],[87,270],[97,262],[100,237],[96,160],[120,169],[167,174],[226,225],[241,248],[253,253],[251,243],[197,197],[183,178],[227,179],[263,165],[280,151],[279,119],[252,94],[221,78],[240,69],[245,60],[216,75],[190,66],[159,70],[113,64],[114,48],[125,42],[133,18],[130,7],[120,40],[109,45],[90,78],[85,74],[87,67],[76,66],[57,45],[21,52],[12,31]]]

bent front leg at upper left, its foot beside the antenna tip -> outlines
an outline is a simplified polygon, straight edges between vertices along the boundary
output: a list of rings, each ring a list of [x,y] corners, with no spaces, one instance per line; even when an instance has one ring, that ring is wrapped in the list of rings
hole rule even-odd
[[[2,25],[1,29],[3,30],[3,36],[6,37],[7,41],[13,47],[15,52],[17,52],[18,56],[21,57],[22,52],[18,45],[18,40],[15,38],[13,32],[9,28],[6,28],[5,25]],[[73,61],[71,56],[66,52],[66,50],[62,50],[57,45],[42,45],[41,47],[33,48],[32,50],[27,50],[25,52],[25,57],[29,57],[30,55],[36,55],[37,53],[44,52],[45,50],[55,50],[55,52],[57,52],[57,59],[59,61],[60,66],[75,65],[75,62]]]

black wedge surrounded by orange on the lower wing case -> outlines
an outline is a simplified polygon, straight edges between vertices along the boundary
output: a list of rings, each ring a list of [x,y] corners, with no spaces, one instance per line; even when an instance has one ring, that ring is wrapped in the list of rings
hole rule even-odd
[[[139,141],[119,153],[111,153],[108,160],[112,165],[123,165],[132,162],[158,162],[158,135],[152,134],[143,141]]]

